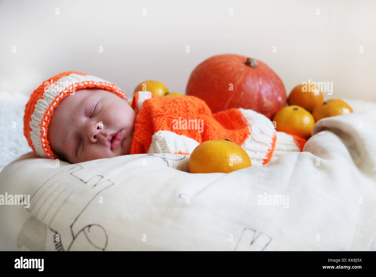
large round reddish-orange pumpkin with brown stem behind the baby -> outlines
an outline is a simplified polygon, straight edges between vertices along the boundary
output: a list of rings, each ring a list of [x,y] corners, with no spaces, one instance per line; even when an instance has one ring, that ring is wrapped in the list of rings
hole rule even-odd
[[[286,106],[285,86],[265,63],[235,54],[210,57],[191,73],[186,95],[206,102],[213,113],[251,109],[269,119]]]

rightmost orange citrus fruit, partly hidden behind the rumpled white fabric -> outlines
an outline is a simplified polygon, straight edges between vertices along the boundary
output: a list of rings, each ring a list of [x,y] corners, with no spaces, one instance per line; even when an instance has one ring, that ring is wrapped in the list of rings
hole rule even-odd
[[[315,121],[319,121],[321,118],[346,115],[352,113],[353,110],[346,102],[341,99],[329,99],[315,107],[312,111],[312,115]]]

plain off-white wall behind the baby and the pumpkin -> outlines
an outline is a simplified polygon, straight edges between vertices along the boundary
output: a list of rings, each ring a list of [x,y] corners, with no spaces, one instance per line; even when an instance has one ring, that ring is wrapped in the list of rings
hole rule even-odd
[[[149,79],[185,93],[194,67],[231,53],[264,61],[287,94],[311,79],[333,82],[325,98],[376,101],[375,14],[376,1],[0,1],[0,90],[74,70],[128,98]]]

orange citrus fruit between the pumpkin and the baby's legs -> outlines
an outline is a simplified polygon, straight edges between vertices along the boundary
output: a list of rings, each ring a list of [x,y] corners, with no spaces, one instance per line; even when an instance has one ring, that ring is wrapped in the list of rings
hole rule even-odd
[[[276,130],[300,138],[308,139],[311,136],[315,120],[310,112],[300,106],[287,106],[280,109],[273,117]]]

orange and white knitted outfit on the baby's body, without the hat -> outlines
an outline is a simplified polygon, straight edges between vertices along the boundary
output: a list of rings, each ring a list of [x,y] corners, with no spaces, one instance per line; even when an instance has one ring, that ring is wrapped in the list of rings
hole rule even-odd
[[[190,155],[210,139],[230,139],[248,153],[252,165],[265,165],[288,152],[301,152],[303,138],[277,132],[266,116],[242,108],[212,113],[194,96],[158,97],[147,91],[133,95],[137,113],[130,154]]]

